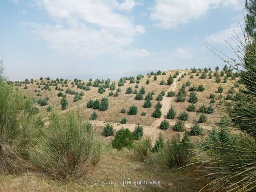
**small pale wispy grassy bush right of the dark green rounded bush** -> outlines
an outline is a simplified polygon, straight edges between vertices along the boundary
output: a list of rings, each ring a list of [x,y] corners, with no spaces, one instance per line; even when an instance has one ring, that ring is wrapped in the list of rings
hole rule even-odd
[[[152,138],[150,136],[143,136],[140,141],[136,142],[133,147],[133,154],[136,158],[144,161],[151,153]]]

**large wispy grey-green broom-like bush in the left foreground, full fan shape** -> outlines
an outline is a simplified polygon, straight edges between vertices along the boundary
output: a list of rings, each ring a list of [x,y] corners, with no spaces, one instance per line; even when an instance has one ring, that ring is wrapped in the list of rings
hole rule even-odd
[[[50,115],[50,124],[43,128],[42,135],[28,149],[29,159],[42,172],[56,178],[80,178],[96,164],[104,144],[92,127],[73,114],[64,118]]]

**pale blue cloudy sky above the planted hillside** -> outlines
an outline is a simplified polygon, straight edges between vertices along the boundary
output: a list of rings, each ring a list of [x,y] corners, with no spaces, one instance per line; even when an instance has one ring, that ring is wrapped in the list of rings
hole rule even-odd
[[[222,66],[244,0],[0,0],[10,80]]]

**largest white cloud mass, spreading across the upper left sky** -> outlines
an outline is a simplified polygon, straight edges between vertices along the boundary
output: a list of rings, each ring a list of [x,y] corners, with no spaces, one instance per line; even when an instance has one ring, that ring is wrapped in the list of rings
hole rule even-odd
[[[60,52],[84,58],[116,54],[130,46],[136,34],[145,32],[143,26],[115,12],[131,10],[133,0],[38,0],[37,4],[55,24],[30,24],[32,32]]]

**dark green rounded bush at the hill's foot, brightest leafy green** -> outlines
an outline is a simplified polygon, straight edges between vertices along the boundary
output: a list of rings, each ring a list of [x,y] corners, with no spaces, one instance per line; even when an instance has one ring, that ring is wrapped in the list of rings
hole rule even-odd
[[[132,148],[132,143],[135,137],[128,129],[121,128],[116,132],[114,140],[112,140],[112,147],[121,150],[122,148]]]

